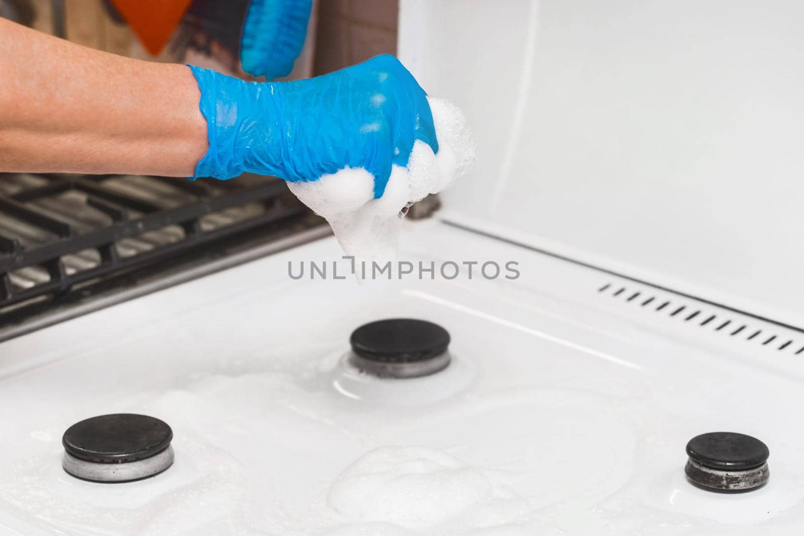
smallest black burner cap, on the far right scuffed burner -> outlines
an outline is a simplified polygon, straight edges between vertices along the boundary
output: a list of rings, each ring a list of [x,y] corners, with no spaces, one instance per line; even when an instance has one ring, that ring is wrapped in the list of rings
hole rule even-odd
[[[746,471],[768,461],[768,446],[755,437],[735,432],[711,432],[687,443],[690,460],[720,471]]]

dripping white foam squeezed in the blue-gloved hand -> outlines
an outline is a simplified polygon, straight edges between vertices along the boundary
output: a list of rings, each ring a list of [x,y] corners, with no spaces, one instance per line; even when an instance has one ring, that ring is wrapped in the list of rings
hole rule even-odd
[[[344,251],[356,260],[396,259],[402,208],[437,194],[474,165],[475,145],[461,109],[449,100],[427,100],[438,153],[416,141],[408,166],[393,166],[381,198],[374,198],[374,178],[362,168],[347,167],[317,181],[288,185],[302,203],[330,223]]]

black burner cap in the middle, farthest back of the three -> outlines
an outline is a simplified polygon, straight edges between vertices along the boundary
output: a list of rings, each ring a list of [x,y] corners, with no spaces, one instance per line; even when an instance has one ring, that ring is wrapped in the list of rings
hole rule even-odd
[[[443,354],[449,333],[433,322],[392,318],[361,325],[350,342],[355,354],[371,361],[409,363]]]

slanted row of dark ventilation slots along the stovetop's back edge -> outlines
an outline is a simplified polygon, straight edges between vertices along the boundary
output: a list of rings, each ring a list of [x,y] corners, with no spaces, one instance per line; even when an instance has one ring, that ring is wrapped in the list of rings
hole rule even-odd
[[[763,332],[756,325],[752,327],[749,324],[742,324],[734,318],[729,318],[728,313],[713,313],[712,310],[706,311],[705,308],[698,309],[689,301],[667,300],[665,299],[666,294],[662,296],[662,293],[656,291],[646,292],[645,288],[628,288],[619,284],[606,283],[597,288],[597,292],[621,301],[623,304],[633,304],[647,310],[652,309],[655,313],[662,313],[673,321],[689,322],[698,328],[709,329],[712,333],[720,331],[728,333],[728,337],[753,342],[753,344],[758,342],[759,346],[769,349],[786,350],[793,355],[804,354],[802,341],[789,339],[772,331]]]

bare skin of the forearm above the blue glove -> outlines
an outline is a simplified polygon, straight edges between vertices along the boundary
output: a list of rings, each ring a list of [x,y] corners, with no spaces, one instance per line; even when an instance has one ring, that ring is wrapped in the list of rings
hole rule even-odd
[[[183,65],[95,51],[0,18],[0,171],[190,176],[207,150]]]

